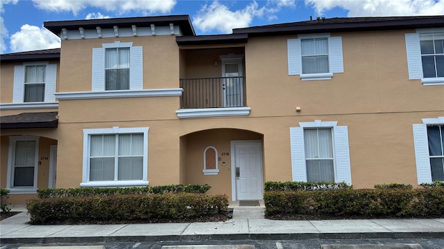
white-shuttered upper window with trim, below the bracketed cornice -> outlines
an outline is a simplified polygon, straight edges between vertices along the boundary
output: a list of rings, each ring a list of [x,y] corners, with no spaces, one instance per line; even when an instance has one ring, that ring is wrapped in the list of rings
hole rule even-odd
[[[142,46],[114,42],[92,50],[92,91],[142,90],[142,72]]]

